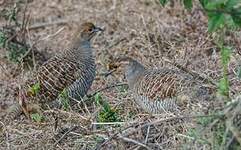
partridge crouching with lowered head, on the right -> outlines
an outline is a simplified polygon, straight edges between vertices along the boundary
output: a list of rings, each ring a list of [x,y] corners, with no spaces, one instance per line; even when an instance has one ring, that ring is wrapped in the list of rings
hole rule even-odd
[[[125,77],[129,90],[146,112],[160,114],[181,110],[190,101],[190,90],[195,85],[191,75],[167,67],[148,69],[127,56],[116,58],[116,62],[127,62]]]

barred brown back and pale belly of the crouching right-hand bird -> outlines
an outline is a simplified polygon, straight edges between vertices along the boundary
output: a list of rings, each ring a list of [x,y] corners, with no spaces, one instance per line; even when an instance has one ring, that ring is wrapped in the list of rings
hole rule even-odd
[[[162,113],[176,109],[178,96],[188,93],[192,84],[192,76],[178,70],[145,70],[136,79],[132,92],[147,112]]]

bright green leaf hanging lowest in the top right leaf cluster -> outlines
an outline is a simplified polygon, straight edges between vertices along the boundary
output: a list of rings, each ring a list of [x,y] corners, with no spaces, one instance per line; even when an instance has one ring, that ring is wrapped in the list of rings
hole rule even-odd
[[[213,32],[218,28],[224,26],[225,15],[218,13],[209,13],[210,17],[208,19],[208,31]]]

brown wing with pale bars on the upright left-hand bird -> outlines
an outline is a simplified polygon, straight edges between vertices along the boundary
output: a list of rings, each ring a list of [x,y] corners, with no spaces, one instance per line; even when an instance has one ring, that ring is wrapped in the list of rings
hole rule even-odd
[[[41,102],[55,100],[64,88],[79,78],[80,70],[84,70],[80,67],[77,63],[58,56],[54,56],[44,63],[38,69],[33,82],[39,83],[38,100]],[[33,86],[33,83],[30,86]]]

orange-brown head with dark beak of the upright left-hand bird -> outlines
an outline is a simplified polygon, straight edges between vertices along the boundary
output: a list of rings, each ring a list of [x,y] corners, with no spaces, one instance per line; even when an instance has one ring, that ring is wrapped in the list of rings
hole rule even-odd
[[[80,26],[76,36],[80,37],[83,41],[90,41],[99,31],[103,31],[103,29],[96,27],[91,22],[86,22]]]

